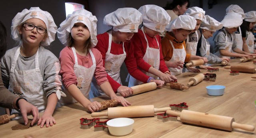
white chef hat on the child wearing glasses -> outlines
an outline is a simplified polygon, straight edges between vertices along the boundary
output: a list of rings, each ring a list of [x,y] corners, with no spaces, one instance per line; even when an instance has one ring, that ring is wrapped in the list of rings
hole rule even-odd
[[[57,26],[54,23],[52,15],[49,12],[41,10],[39,7],[31,7],[29,10],[24,9],[22,12],[16,14],[16,16],[12,19],[12,39],[17,41],[21,39],[18,31],[18,25],[31,18],[38,18],[45,23],[48,37],[42,41],[40,45],[49,46],[51,42],[55,40]]]

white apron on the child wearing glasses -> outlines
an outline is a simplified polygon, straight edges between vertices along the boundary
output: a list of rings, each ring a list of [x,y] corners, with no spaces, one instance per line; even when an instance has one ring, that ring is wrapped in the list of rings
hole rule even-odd
[[[16,62],[20,55],[20,47],[16,50],[10,70],[10,82],[8,89],[10,92],[26,98],[30,104],[39,109],[39,112],[43,112],[47,105],[47,99],[43,88],[44,80],[39,69],[38,50],[35,56],[35,69],[32,70],[15,69]],[[12,109],[12,114],[15,113],[18,113],[21,116],[20,110]]]

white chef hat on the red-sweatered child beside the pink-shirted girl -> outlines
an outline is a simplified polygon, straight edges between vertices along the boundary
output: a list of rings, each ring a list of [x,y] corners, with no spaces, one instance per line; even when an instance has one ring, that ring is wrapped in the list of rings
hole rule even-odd
[[[119,8],[106,15],[103,24],[113,26],[114,31],[138,32],[142,14],[135,8]]]

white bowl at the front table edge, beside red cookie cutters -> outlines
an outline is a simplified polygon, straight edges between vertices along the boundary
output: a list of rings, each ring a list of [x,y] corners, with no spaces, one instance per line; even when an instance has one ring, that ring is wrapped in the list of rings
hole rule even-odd
[[[114,136],[124,136],[132,132],[134,120],[131,118],[114,118],[107,122],[108,131]]]

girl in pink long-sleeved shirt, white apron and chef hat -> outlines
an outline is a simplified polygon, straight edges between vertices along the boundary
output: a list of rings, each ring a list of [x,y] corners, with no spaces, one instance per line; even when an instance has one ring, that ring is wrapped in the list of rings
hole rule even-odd
[[[66,46],[60,52],[59,59],[60,75],[67,94],[58,105],[78,101],[91,112],[100,110],[99,102],[88,100],[93,76],[111,99],[116,99],[123,106],[130,105],[124,97],[116,96],[112,90],[102,64],[102,56],[96,48],[93,48],[98,42],[96,23],[97,18],[91,12],[82,9],[69,14],[58,28],[58,38]]]

